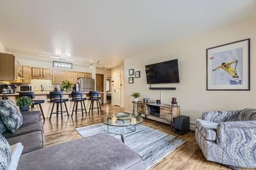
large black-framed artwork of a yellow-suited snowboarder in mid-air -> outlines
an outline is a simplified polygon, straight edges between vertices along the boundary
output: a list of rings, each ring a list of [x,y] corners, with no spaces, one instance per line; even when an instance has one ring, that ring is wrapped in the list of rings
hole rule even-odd
[[[250,90],[250,39],[208,48],[207,90]]]

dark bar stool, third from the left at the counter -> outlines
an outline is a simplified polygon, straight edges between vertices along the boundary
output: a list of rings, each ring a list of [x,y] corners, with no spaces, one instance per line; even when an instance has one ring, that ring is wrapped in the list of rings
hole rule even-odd
[[[71,93],[71,96],[72,96],[72,101],[74,101],[74,105],[73,105],[73,110],[72,110],[72,115],[73,116],[73,113],[74,111],[76,111],[76,114],[77,114],[77,111],[82,111],[82,116],[84,115],[84,110],[85,110],[85,114],[87,114],[87,111],[86,111],[86,107],[85,107],[85,104],[84,104],[84,101],[86,100],[86,98],[83,98],[83,92],[81,91],[78,91],[78,92],[75,92],[73,91]],[[81,103],[81,109],[77,109],[77,105],[78,103]],[[84,109],[83,109],[83,104],[84,104]],[[74,110],[75,108],[75,105],[76,105],[76,110]]]

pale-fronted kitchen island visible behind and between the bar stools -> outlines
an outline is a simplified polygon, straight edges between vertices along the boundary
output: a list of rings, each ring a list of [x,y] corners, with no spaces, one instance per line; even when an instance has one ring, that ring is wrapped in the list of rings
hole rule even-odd
[[[50,103],[50,92],[34,92],[35,93],[35,100],[44,100],[45,103],[42,104],[42,108],[44,110],[44,115],[45,118],[49,118],[50,117],[50,113],[51,113],[51,108],[52,108],[52,103]],[[100,97],[103,96],[103,92],[100,92]],[[13,101],[13,103],[16,103],[17,99],[19,98],[19,92],[15,93],[15,94],[0,94],[0,97],[2,98],[2,96],[8,96],[8,99],[10,99],[11,101]],[[89,98],[89,92],[84,92],[84,96],[85,98]],[[73,108],[73,104],[74,102],[72,102],[72,96],[71,96],[71,92],[63,92],[63,99],[69,99],[69,101],[67,102],[67,108],[68,108],[68,113],[72,113],[72,108]],[[103,103],[103,97],[100,100],[100,104]],[[89,111],[90,108],[90,101],[86,100],[85,101],[85,106],[86,106],[86,110]],[[78,104],[79,107],[79,104]],[[56,109],[56,107],[54,107],[54,110]],[[32,108],[31,110],[39,110],[39,106],[38,104],[35,105],[35,108]],[[78,114],[78,113],[77,113]],[[80,114],[80,112],[79,112]],[[64,114],[66,115],[66,114]],[[53,115],[54,116],[54,115]]]

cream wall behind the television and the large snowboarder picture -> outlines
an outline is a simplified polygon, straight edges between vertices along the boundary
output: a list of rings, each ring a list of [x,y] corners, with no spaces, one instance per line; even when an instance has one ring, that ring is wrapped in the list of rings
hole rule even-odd
[[[163,103],[170,104],[177,97],[181,114],[188,115],[194,122],[204,111],[241,110],[256,106],[256,17],[243,20],[221,29],[205,32],[170,45],[162,46],[150,52],[124,60],[124,107],[132,110],[131,92],[140,92],[142,97],[153,101],[160,98],[159,90],[149,90],[145,75],[145,65],[164,60],[179,59],[180,83],[156,85],[177,87],[177,90],[164,90]],[[251,90],[250,91],[207,91],[206,90],[206,49],[242,39],[251,39]],[[128,69],[141,71],[141,78],[128,83]]]

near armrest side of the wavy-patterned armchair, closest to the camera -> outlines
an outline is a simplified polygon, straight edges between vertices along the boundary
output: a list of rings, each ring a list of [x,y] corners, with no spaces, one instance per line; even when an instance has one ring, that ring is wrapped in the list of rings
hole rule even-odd
[[[223,164],[256,167],[256,120],[222,122],[217,127],[217,144],[223,150]]]

